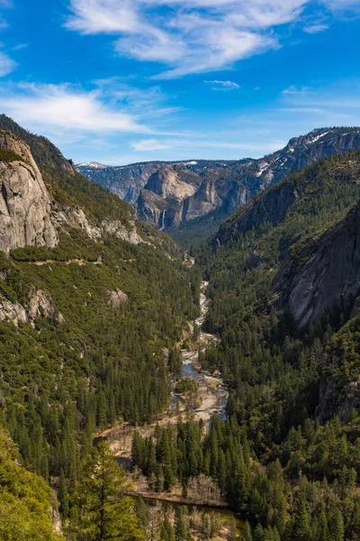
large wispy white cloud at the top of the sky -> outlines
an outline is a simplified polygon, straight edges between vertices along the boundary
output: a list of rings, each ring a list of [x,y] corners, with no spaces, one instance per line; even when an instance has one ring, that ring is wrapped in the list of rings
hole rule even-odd
[[[230,69],[279,46],[272,31],[311,0],[70,0],[67,29],[117,36],[115,50],[168,67],[157,78]]]

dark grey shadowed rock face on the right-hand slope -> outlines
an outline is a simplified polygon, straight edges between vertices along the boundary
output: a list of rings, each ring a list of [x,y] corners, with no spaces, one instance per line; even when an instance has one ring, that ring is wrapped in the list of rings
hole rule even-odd
[[[275,278],[271,304],[288,308],[300,326],[334,308],[348,317],[360,293],[360,203],[320,238],[294,249]]]

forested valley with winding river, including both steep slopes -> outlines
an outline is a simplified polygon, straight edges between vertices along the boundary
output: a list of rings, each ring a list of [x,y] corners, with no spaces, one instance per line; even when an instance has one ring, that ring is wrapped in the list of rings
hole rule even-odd
[[[184,252],[46,139],[1,127],[11,541],[23,525],[93,541],[103,491],[126,541],[357,541],[360,151],[312,133],[334,152]],[[197,172],[152,174],[163,195],[195,196]]]

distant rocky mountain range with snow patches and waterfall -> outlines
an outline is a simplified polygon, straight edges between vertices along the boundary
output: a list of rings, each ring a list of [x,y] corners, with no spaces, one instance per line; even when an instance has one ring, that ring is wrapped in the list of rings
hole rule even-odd
[[[284,149],[259,160],[148,162],[124,167],[82,164],[77,168],[133,204],[146,223],[166,229],[184,224],[191,228],[193,220],[207,215],[220,223],[293,171],[359,146],[359,128],[321,128],[294,137]],[[180,187],[176,195],[175,183]]]

